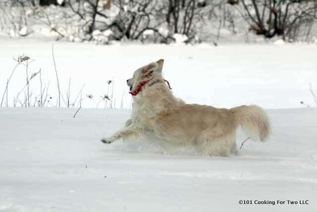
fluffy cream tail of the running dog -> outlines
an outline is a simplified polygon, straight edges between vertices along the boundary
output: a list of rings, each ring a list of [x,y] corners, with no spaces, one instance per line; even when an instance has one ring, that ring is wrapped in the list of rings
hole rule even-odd
[[[237,127],[241,126],[248,136],[260,139],[260,141],[267,140],[270,134],[270,122],[261,107],[242,105],[231,108],[230,111],[234,114]]]

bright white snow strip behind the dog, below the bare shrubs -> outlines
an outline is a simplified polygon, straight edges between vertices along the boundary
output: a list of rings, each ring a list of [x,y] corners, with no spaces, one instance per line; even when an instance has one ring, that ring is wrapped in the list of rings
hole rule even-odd
[[[234,107],[258,104],[264,108],[296,108],[300,101],[314,106],[309,83],[317,90],[317,48],[314,45],[94,45],[31,39],[1,39],[0,94],[16,62],[12,57],[27,55],[35,61],[29,75],[42,70],[43,83],[50,80],[49,95],[56,104],[57,87],[52,59],[52,44],[61,92],[65,96],[71,77],[71,100],[85,84],[83,107],[96,108],[100,96],[107,93],[107,80],[113,83],[113,104],[130,108],[126,79],[133,71],[160,58],[165,59],[164,77],[173,93],[188,103]],[[294,54],[296,53],[296,54]],[[20,66],[9,83],[8,102],[25,85],[25,67]],[[39,78],[30,82],[34,95],[39,94]],[[111,94],[112,84],[109,88]],[[23,98],[23,92],[22,97]],[[62,104],[63,105],[63,104]],[[103,105],[103,106],[102,106]],[[100,104],[99,107],[104,107]],[[76,105],[78,106],[78,105]]]

